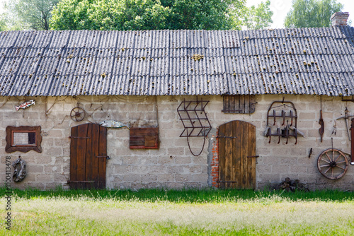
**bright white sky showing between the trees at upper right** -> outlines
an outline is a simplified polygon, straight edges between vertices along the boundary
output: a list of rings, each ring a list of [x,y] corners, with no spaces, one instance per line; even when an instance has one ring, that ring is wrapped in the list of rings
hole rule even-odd
[[[258,5],[261,1],[265,0],[247,0],[247,6]],[[354,24],[354,0],[339,0],[337,1],[344,5],[342,11],[349,12],[349,19],[352,20]],[[292,0],[270,0],[270,10],[273,11],[273,24],[270,28],[285,28],[284,19],[287,13],[290,11]],[[352,24],[352,25],[353,25]]]

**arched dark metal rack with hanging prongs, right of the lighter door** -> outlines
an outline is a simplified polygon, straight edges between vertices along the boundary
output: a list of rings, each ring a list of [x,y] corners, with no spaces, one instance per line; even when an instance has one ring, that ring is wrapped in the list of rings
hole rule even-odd
[[[272,129],[276,129],[276,131]],[[295,105],[292,102],[284,101],[284,99],[272,102],[268,109],[267,127],[264,131],[264,136],[269,137],[268,143],[270,143],[272,136],[278,136],[278,143],[280,143],[280,138],[286,138],[287,144],[290,137],[295,137],[295,144],[297,144],[298,135],[304,136],[297,129],[297,110]]]

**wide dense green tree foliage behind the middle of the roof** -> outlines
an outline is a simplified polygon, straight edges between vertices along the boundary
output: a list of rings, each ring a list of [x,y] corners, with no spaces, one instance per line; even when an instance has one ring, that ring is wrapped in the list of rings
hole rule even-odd
[[[55,30],[239,29],[245,0],[62,0]],[[236,19],[236,20],[235,20]]]

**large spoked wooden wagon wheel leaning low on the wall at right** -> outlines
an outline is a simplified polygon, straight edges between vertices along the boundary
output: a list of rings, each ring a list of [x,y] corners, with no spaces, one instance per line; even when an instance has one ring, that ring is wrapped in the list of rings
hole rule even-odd
[[[329,148],[319,155],[317,168],[327,179],[339,179],[348,170],[348,158],[341,150]]]

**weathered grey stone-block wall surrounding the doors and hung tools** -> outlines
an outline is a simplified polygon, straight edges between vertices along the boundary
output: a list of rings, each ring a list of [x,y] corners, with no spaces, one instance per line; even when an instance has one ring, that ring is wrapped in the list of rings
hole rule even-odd
[[[343,119],[336,121],[336,136],[331,135],[333,121],[344,115],[346,106],[354,114],[353,102],[342,102],[341,98],[322,96],[322,110],[325,122],[324,141],[319,138],[320,97],[310,95],[286,95],[285,100],[295,104],[298,114],[297,127],[304,132],[297,145],[294,138],[285,144],[282,138],[268,143],[263,136],[268,108],[274,100],[282,100],[281,95],[256,96],[256,112],[253,114],[224,114],[222,96],[200,96],[210,100],[206,107],[212,131],[205,143],[202,155],[190,154],[186,138],[180,138],[183,125],[176,112],[183,99],[195,100],[195,96],[79,96],[37,97],[36,104],[16,112],[14,106],[21,104],[23,98],[0,97],[0,180],[5,181],[5,157],[11,156],[11,162],[21,155],[27,162],[27,176],[20,183],[11,183],[12,187],[36,187],[52,189],[67,187],[69,179],[70,128],[87,122],[102,122],[115,119],[131,126],[159,125],[159,150],[130,150],[129,130],[108,129],[107,187],[208,187],[217,186],[218,156],[217,127],[232,120],[244,120],[256,126],[256,165],[257,188],[263,189],[270,184],[280,182],[285,177],[297,178],[309,184],[310,189],[354,189],[353,167],[349,166],[346,175],[338,180],[329,180],[321,176],[316,167],[319,153],[333,147],[350,153],[350,142]],[[158,112],[156,114],[156,104]],[[70,118],[72,108],[83,107],[87,117],[82,122]],[[47,113],[47,114],[46,114]],[[159,119],[156,119],[156,118]],[[42,127],[42,153],[6,153],[6,126]],[[191,138],[194,153],[202,147],[203,138]],[[309,151],[312,148],[310,158]]]

